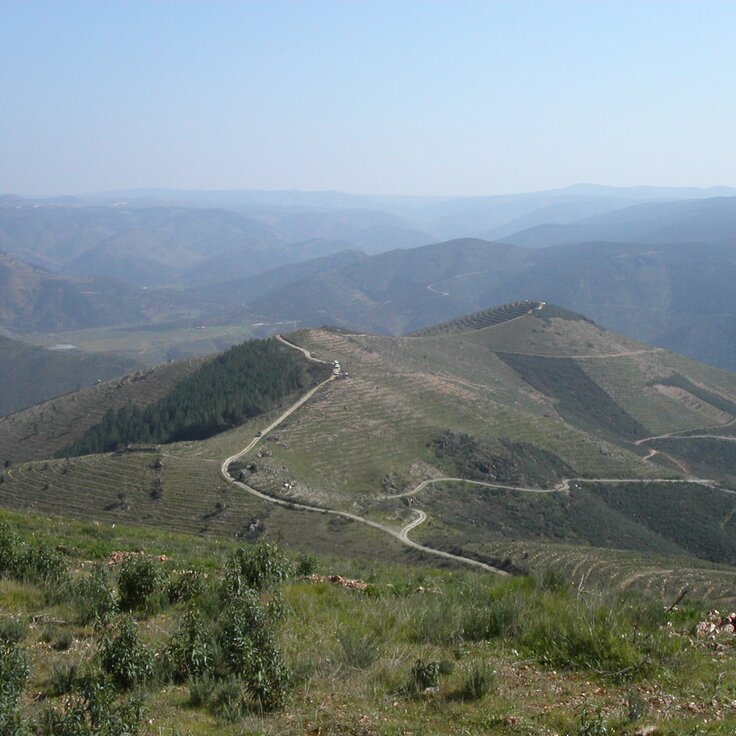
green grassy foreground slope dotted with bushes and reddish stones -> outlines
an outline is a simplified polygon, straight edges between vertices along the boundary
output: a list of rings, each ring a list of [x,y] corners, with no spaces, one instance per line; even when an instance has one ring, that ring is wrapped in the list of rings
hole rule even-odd
[[[0,532],[6,733],[736,727],[734,637],[694,637],[695,606],[581,594],[554,572],[376,566],[348,589],[304,577],[337,561],[133,529],[108,541],[151,554],[99,564],[88,525],[12,518]]]

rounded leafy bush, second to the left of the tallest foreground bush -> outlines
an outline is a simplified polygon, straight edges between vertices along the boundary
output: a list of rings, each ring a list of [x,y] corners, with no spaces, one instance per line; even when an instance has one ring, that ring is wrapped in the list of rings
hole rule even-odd
[[[102,670],[121,690],[142,685],[153,675],[153,652],[140,640],[138,626],[125,617],[111,636],[105,632],[99,644],[98,656]]]

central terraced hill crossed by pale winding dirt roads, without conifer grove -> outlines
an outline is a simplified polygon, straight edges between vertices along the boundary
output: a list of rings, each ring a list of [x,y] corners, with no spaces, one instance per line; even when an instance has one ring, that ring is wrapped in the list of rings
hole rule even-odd
[[[302,403],[284,399],[208,440],[166,445],[160,458],[12,466],[0,499],[310,549],[329,548],[333,532],[360,554],[383,539],[380,554],[394,559],[424,543],[413,554],[442,550],[511,572],[540,564],[518,545],[573,545],[578,557],[626,559],[623,587],[652,567],[645,555],[659,555],[668,561],[642,576],[646,585],[669,591],[698,570],[699,589],[725,597],[733,570],[714,565],[734,560],[731,477],[725,461],[696,465],[677,451],[710,438],[676,438],[732,439],[718,428],[736,420],[736,376],[550,305],[521,311],[423,336],[292,333],[307,357],[340,366]],[[667,504],[672,515],[657,512]]]

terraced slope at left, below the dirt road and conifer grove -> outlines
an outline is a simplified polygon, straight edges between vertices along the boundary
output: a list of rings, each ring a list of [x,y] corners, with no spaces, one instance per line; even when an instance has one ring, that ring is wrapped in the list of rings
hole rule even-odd
[[[351,556],[363,559],[421,559],[370,527],[234,492],[219,466],[218,460],[168,452],[36,461],[4,471],[0,498],[7,508],[103,526],[140,525],[246,542],[276,539],[328,555],[349,548]]]

